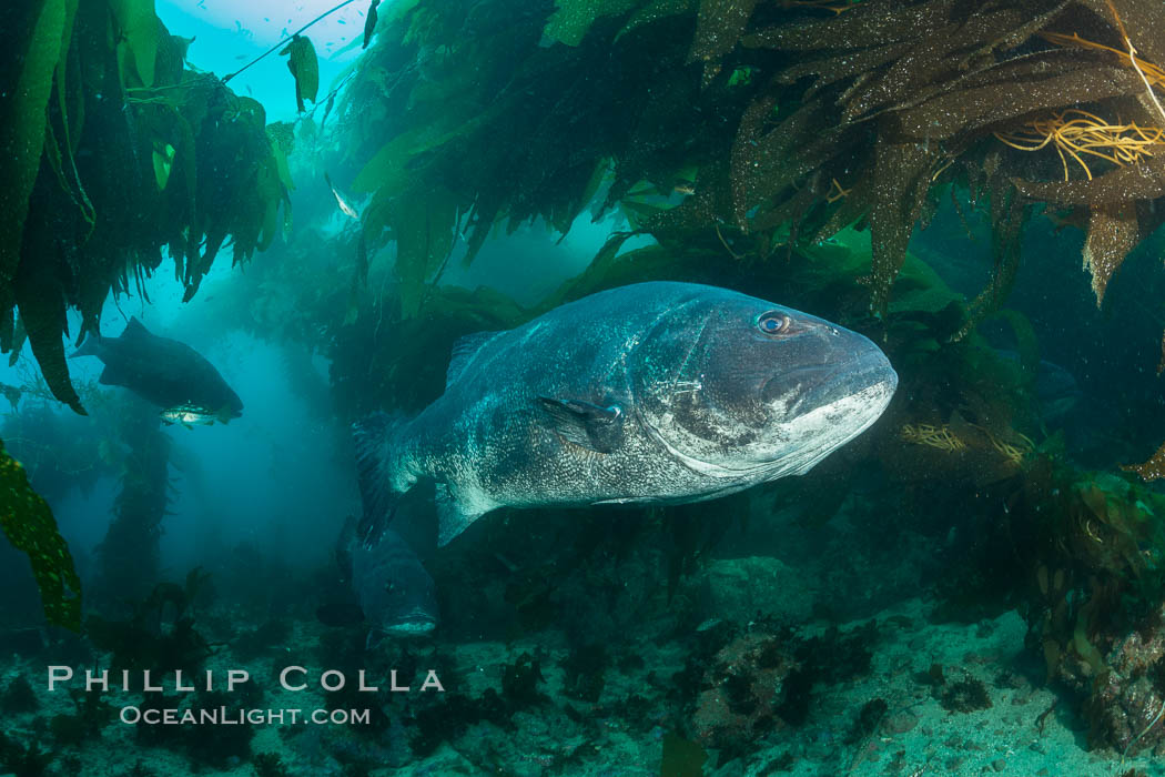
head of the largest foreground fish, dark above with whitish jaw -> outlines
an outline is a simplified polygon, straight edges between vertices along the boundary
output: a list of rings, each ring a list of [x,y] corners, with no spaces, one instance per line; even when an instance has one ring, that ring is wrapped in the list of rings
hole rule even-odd
[[[669,310],[631,358],[648,432],[700,472],[802,474],[885,410],[898,376],[868,338],[716,290]]]

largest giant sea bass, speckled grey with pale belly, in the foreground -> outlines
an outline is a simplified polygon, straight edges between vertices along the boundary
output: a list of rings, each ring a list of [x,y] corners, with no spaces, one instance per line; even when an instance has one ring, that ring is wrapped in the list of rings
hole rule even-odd
[[[445,544],[499,507],[682,503],[809,472],[898,376],[866,337],[756,297],[640,283],[463,338],[445,394],[358,424],[366,541],[437,483]]]

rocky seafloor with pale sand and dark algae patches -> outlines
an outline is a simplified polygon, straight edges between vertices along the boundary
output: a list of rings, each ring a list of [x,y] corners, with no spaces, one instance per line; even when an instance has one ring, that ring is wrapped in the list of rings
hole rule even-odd
[[[10,633],[0,774],[1165,775],[1160,744],[1125,757],[1088,749],[1079,701],[1046,683],[1017,613],[942,622],[938,602],[910,598],[838,624],[810,607],[822,585],[775,558],[716,560],[670,599],[707,617],[657,643],[580,645],[546,629],[375,654],[359,628],[309,620],[232,631],[241,615],[216,605],[197,619],[212,651],[200,671],[246,669],[234,693],[86,694],[78,683],[48,693],[49,664],[119,658]],[[305,690],[280,687],[291,665],[309,670]],[[317,679],[332,666],[348,683],[324,692]],[[380,691],[356,691],[356,667]],[[444,692],[419,691],[430,669]],[[410,692],[388,688],[390,670]],[[119,720],[128,705],[372,714],[366,725],[132,726]]]

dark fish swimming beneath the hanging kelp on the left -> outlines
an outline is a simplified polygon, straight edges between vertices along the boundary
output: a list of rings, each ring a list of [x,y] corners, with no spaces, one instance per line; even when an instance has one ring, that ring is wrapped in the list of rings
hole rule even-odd
[[[130,318],[121,337],[91,335],[76,356],[105,362],[98,382],[123,386],[165,411],[183,409],[226,423],[242,415],[242,402],[219,372],[185,342],[151,334]]]

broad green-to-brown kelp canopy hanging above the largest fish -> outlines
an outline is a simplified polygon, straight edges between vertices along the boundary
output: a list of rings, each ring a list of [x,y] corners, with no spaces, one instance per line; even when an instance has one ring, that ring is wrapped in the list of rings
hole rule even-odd
[[[501,222],[565,232],[601,186],[664,246],[735,259],[868,225],[882,312],[915,225],[960,184],[995,234],[972,322],[1007,291],[1036,206],[1086,228],[1097,302],[1165,214],[1156,0],[412,0],[383,16],[345,147],[407,315],[458,235],[472,261]]]

